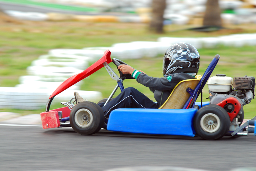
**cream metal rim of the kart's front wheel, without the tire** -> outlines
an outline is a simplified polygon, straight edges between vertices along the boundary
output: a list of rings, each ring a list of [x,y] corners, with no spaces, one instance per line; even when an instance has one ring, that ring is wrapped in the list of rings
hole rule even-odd
[[[90,126],[92,121],[92,112],[88,109],[79,109],[75,114],[75,122],[81,128]]]

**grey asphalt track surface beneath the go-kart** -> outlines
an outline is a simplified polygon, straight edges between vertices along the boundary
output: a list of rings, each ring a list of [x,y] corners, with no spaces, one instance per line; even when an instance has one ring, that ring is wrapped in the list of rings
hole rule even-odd
[[[0,124],[0,170],[103,171],[116,167],[173,166],[206,170],[255,167],[256,137],[207,141],[199,137],[139,135],[100,130]]]

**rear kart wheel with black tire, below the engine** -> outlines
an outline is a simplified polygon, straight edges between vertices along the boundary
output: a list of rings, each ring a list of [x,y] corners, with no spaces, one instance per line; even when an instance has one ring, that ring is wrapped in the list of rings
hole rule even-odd
[[[229,130],[230,119],[227,111],[218,105],[200,108],[194,117],[196,133],[206,140],[222,138]]]

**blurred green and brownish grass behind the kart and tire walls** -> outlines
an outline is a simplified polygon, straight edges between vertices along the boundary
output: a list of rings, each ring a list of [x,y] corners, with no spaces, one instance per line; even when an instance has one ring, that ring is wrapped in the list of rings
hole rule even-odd
[[[26,68],[40,55],[45,55],[53,48],[84,48],[97,46],[112,46],[114,43],[130,41],[156,41],[158,37],[207,37],[220,36],[230,33],[253,33],[255,25],[233,26],[210,33],[201,33],[184,30],[192,26],[166,26],[164,34],[148,32],[146,24],[132,23],[82,23],[82,22],[23,22],[22,24],[0,25],[0,86],[13,87],[19,84],[19,77],[27,75]],[[242,28],[242,29],[240,29]],[[176,32],[173,32],[178,30]],[[193,35],[193,36],[191,36]],[[216,54],[221,58],[212,73],[226,74],[229,77],[255,76],[256,70],[256,46],[252,47],[223,47],[214,49],[198,49],[201,56],[199,74],[203,74],[208,64]],[[124,60],[136,69],[140,69],[153,77],[162,77],[162,57],[144,57],[142,59]],[[92,64],[92,63],[91,63]],[[116,66],[110,66],[117,72]],[[100,91],[103,97],[108,97],[116,82],[112,80],[105,68],[95,72],[89,78],[83,80],[82,90]],[[154,100],[153,93],[148,88],[140,85],[135,80],[125,80],[125,87],[135,87],[150,99]],[[116,94],[120,93],[120,90]],[[116,96],[115,94],[115,96]],[[208,97],[207,85],[203,89],[203,99]],[[84,97],[86,98],[86,97]],[[98,99],[100,100],[100,99]],[[95,100],[94,102],[98,102]],[[253,99],[249,105],[244,106],[245,118],[255,116],[256,102]],[[64,107],[60,104],[51,106],[51,109]],[[0,109],[21,113],[22,115],[40,113],[40,110],[14,110]]]

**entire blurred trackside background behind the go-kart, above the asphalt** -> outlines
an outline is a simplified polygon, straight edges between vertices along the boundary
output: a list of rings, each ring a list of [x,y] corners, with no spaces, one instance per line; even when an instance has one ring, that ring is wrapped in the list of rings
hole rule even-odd
[[[0,10],[0,111],[43,112],[64,80],[107,49],[111,58],[162,77],[167,48],[187,42],[200,53],[199,75],[216,54],[212,76],[256,74],[256,0],[0,0]],[[60,101],[74,91],[97,103],[115,86],[102,68],[57,95],[51,109],[64,107]],[[154,100],[135,80],[125,80],[129,86]],[[205,85],[204,101],[208,95]],[[255,116],[255,103],[244,107],[245,118]]]

